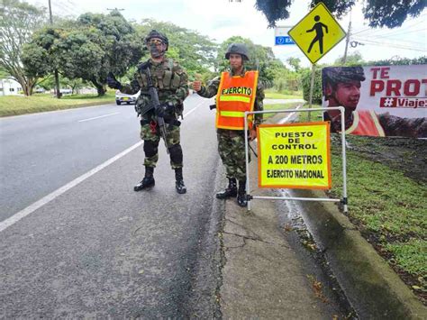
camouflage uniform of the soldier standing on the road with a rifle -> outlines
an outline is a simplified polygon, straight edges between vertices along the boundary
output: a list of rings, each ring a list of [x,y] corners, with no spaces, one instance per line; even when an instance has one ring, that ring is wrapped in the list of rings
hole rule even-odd
[[[188,77],[186,72],[171,59],[165,58],[162,62],[149,59],[150,73],[153,86],[158,90],[159,102],[167,105],[165,108],[165,123],[167,124],[167,144],[170,152],[170,166],[172,169],[183,167],[182,149],[179,139],[179,125],[177,117],[182,114],[183,102],[188,96]],[[135,109],[138,113],[150,105],[150,93],[147,75],[138,69],[130,85],[123,85],[121,91],[126,94],[136,94],[141,89]],[[141,115],[141,139],[144,141],[145,160],[144,166],[156,167],[159,160],[159,128],[153,127],[156,122],[154,109]]]

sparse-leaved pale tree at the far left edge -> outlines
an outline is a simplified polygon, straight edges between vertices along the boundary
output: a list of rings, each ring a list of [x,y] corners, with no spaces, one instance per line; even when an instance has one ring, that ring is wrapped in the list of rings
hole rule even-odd
[[[32,95],[37,77],[23,69],[23,45],[32,32],[47,22],[44,10],[18,0],[3,0],[0,7],[0,68],[14,78],[25,96]]]

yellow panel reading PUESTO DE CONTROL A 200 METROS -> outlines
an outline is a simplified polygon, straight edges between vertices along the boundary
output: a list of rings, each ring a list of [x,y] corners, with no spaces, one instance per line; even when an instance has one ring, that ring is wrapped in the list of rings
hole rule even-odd
[[[259,187],[330,189],[330,123],[261,124]]]

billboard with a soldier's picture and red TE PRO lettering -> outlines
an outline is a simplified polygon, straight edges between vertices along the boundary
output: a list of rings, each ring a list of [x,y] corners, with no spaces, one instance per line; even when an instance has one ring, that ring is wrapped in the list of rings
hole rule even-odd
[[[427,138],[427,65],[328,67],[323,107],[344,106],[347,134]],[[340,132],[337,110],[323,114]]]

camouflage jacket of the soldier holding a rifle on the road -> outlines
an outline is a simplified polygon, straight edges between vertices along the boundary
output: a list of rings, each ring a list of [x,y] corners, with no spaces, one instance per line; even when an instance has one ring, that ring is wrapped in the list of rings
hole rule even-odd
[[[167,110],[169,114],[165,117],[177,118],[177,114],[182,112],[183,102],[188,96],[188,77],[184,69],[172,59],[165,58],[161,62],[154,62],[149,59],[151,81],[156,87],[159,95],[160,104],[174,105],[176,112]],[[140,67],[141,64],[138,66]],[[134,95],[141,89],[135,110],[139,112],[142,107],[149,105],[151,101],[147,75],[139,68],[135,72],[131,84],[123,85],[121,92],[128,95]],[[154,117],[154,110],[150,110],[147,114],[142,115],[143,119],[151,120]]]

